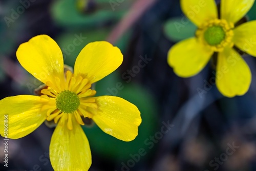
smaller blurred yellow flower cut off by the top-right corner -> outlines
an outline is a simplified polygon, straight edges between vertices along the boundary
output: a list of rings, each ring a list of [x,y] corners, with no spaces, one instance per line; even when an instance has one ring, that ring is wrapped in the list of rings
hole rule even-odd
[[[233,47],[256,56],[256,21],[234,25],[253,3],[254,0],[222,0],[218,17],[214,0],[181,0],[182,11],[198,30],[195,37],[178,42],[169,50],[169,66],[180,77],[194,76],[218,52],[217,88],[227,97],[244,95],[250,87],[251,72]]]

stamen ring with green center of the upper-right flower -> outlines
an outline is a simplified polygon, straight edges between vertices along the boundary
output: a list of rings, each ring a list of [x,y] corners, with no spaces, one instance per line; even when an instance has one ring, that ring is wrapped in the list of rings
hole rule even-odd
[[[212,19],[198,28],[196,36],[213,51],[221,52],[226,46],[233,47],[233,28],[225,19]]]

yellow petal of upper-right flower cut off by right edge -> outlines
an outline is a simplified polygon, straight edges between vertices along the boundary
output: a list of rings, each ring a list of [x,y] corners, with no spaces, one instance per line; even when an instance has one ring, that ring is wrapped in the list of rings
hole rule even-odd
[[[234,44],[242,51],[256,57],[256,20],[234,29]]]

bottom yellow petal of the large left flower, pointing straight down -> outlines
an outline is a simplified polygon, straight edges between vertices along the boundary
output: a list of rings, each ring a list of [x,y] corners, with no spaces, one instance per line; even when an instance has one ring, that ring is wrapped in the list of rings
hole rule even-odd
[[[65,116],[66,115],[66,116]],[[53,132],[50,143],[50,161],[54,170],[88,170],[92,164],[91,149],[81,126],[72,118],[73,129],[63,124],[64,114]]]

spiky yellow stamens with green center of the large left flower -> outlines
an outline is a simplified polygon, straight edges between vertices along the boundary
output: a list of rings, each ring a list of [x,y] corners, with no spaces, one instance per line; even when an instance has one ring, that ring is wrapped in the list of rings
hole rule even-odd
[[[48,100],[42,108],[47,110],[48,121],[54,120],[57,123],[61,117],[65,117],[68,129],[72,130],[73,117],[79,124],[84,125],[81,117],[92,118],[90,110],[98,108],[95,99],[91,97],[96,91],[91,89],[92,85],[87,78],[67,71],[63,81],[55,77],[54,83],[46,84],[48,88],[41,90],[43,95],[40,97]]]

